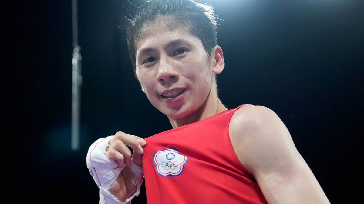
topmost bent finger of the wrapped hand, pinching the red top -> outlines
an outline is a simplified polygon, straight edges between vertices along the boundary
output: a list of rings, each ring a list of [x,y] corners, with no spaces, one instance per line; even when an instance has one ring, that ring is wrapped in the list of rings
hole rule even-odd
[[[146,144],[146,141],[141,137],[129,135],[124,132],[116,132],[114,138],[110,140],[109,145],[111,146],[111,144],[114,143],[116,140],[121,140],[124,144],[131,147],[132,150],[138,151],[140,154],[144,153],[144,150],[141,146],[144,146]]]

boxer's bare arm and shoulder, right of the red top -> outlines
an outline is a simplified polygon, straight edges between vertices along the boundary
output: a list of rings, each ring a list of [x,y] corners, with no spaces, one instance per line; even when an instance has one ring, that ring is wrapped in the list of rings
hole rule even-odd
[[[263,106],[243,106],[229,125],[233,148],[269,203],[329,203],[284,123]]]

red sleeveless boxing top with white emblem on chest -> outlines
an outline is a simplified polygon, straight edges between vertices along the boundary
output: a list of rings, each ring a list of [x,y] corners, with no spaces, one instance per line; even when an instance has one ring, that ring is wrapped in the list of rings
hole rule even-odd
[[[230,142],[229,122],[241,106],[146,138],[148,204],[267,203]]]

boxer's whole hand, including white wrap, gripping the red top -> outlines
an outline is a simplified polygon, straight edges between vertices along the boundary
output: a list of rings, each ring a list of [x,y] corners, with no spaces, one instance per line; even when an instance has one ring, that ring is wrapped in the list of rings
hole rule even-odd
[[[145,144],[144,139],[124,132],[99,138],[91,144],[86,164],[100,188],[101,203],[130,203],[139,195],[144,178],[142,146]],[[134,150],[133,154],[128,146]]]

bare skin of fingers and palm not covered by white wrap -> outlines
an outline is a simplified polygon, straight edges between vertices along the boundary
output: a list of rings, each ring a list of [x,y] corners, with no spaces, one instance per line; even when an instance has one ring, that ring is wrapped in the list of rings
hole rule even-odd
[[[109,142],[110,146],[106,149],[107,158],[115,161],[120,168],[123,168],[109,190],[120,201],[126,200],[137,191],[137,181],[130,167],[132,162],[139,167],[143,167],[142,154],[144,150],[142,146],[145,144],[146,141],[143,138],[128,135],[124,132],[116,132]],[[133,153],[131,153],[128,146],[134,150]]]

